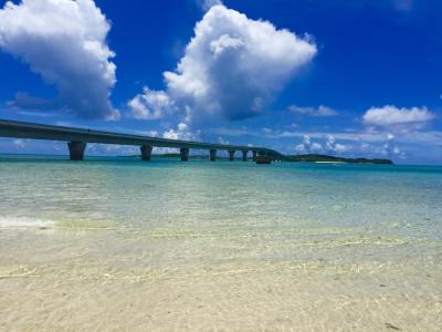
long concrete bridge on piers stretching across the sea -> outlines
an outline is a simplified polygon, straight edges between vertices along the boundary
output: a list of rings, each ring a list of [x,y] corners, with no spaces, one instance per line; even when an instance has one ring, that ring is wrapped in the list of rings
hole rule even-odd
[[[265,147],[167,139],[7,120],[0,120],[0,137],[67,142],[71,160],[83,160],[87,143],[139,146],[141,160],[150,160],[154,147],[179,148],[182,162],[189,160],[190,149],[209,151],[209,158],[212,162],[217,159],[218,151],[227,151],[231,162],[234,160],[236,152],[242,153],[242,160],[244,162],[248,160],[250,152],[252,153],[253,160],[255,160],[257,155],[269,156],[273,160],[284,159],[284,155],[281,153]]]

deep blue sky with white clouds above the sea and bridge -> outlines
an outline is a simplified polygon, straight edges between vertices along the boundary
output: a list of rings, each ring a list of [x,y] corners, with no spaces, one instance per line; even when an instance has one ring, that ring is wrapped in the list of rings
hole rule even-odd
[[[442,165],[441,11],[439,0],[0,1],[0,118]],[[1,138],[0,153],[67,149]]]

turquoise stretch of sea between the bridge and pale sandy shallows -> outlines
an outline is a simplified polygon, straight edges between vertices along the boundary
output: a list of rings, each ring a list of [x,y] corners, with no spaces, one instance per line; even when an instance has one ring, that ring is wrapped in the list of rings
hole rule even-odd
[[[442,238],[442,167],[4,158],[0,216],[112,222],[169,221],[246,230],[358,227]]]

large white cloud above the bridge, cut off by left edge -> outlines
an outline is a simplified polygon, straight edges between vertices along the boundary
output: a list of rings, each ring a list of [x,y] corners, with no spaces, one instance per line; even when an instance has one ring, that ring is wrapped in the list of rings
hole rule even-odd
[[[0,9],[0,49],[56,85],[59,108],[86,118],[119,115],[109,102],[116,82],[109,29],[93,0],[8,1]]]

